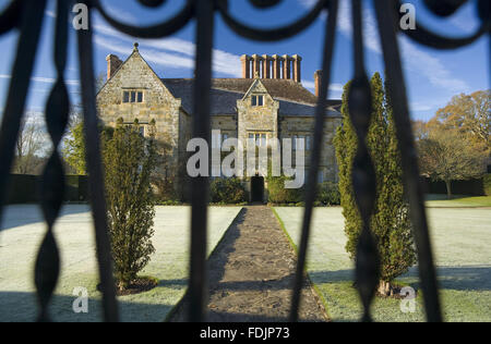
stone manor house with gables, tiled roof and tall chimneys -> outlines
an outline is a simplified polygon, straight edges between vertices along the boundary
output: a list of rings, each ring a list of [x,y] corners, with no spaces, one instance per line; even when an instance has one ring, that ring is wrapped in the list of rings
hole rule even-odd
[[[237,137],[256,145],[271,138],[304,138],[306,175],[310,162],[320,71],[314,74],[315,95],[301,84],[301,58],[295,56],[242,56],[242,77],[214,78],[212,85],[212,130],[224,140]],[[163,179],[173,179],[179,197],[185,198],[188,140],[192,133],[192,78],[161,78],[140,54],[137,44],[123,62],[107,57],[107,82],[97,95],[97,109],[105,125],[139,120],[142,133],[155,120],[156,138],[165,145],[159,164]],[[340,125],[340,100],[328,100],[325,109],[324,147],[319,182],[337,181],[333,138]],[[216,139],[216,138],[215,138]],[[295,147],[294,147],[295,148]],[[295,160],[294,160],[295,161]],[[266,200],[262,175],[243,177],[249,200]]]

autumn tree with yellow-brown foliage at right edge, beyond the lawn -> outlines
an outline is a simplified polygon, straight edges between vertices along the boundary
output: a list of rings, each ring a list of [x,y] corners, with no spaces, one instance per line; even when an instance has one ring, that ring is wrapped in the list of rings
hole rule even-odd
[[[414,123],[421,173],[446,185],[481,177],[491,155],[490,90],[460,94],[428,122]]]

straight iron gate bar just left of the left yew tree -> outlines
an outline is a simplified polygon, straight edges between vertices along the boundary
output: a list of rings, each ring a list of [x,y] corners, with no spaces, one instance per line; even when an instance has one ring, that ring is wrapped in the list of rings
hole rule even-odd
[[[62,1],[62,0],[61,0]],[[92,1],[85,0],[92,13]],[[95,98],[94,51],[92,45],[92,19],[88,29],[77,30],[80,82],[84,112],[84,137],[86,143],[86,164],[88,172],[88,191],[91,195],[92,214],[96,237],[96,255],[99,268],[100,290],[103,292],[104,319],[115,322],[119,320],[116,286],[112,277],[111,246],[107,226],[107,208],[104,188],[104,171],[101,165],[98,119]]]

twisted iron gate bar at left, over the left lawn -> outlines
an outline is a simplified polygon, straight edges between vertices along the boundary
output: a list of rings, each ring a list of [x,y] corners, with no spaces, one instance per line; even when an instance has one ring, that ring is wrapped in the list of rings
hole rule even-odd
[[[57,17],[53,36],[53,60],[57,71],[48,101],[45,119],[49,137],[52,142],[51,157],[45,165],[40,181],[40,206],[48,229],[39,247],[34,269],[34,282],[39,302],[38,321],[50,321],[48,304],[58,282],[60,273],[60,253],[55,238],[53,225],[63,205],[64,170],[58,147],[63,137],[69,120],[70,101],[64,83],[68,46],[68,10],[71,1],[57,1]]]

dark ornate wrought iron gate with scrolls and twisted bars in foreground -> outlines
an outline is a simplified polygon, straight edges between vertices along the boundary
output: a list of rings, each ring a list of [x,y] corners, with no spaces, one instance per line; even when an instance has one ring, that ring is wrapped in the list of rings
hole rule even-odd
[[[154,8],[165,0],[139,0],[143,5]],[[271,8],[280,0],[249,0],[256,8]],[[342,0],[348,1],[348,0]],[[46,123],[53,147],[58,147],[67,127],[69,118],[69,97],[63,72],[67,61],[69,11],[73,0],[57,0],[57,19],[55,29],[53,62],[58,73],[49,99],[46,105]],[[148,27],[135,27],[115,20],[103,8],[99,0],[81,0],[92,11],[99,13],[118,30],[141,38],[160,38],[169,36],[191,20],[196,21],[196,57],[194,81],[193,135],[209,142],[209,89],[212,78],[212,49],[215,14],[219,14],[236,34],[260,41],[274,41],[292,37],[306,29],[322,13],[327,13],[325,21],[322,85],[315,114],[313,150],[311,169],[306,187],[306,208],[303,213],[302,235],[299,246],[296,282],[292,286],[291,318],[298,320],[300,290],[304,278],[304,263],[309,242],[312,207],[315,198],[315,183],[321,157],[324,109],[326,107],[327,88],[331,81],[331,66],[334,51],[338,0],[319,0],[316,4],[300,20],[291,25],[275,29],[251,27],[235,19],[228,11],[227,0],[187,0],[182,10],[165,23]],[[383,48],[386,77],[390,82],[390,96],[394,101],[395,124],[402,162],[404,169],[405,191],[411,209],[415,228],[415,242],[418,250],[421,288],[424,297],[427,319],[441,321],[440,302],[432,260],[432,250],[428,233],[428,223],[423,205],[423,195],[419,184],[419,173],[414,138],[410,130],[406,87],[402,69],[398,41],[399,8],[398,0],[374,0],[379,34]],[[434,14],[448,16],[467,0],[426,0],[424,3]],[[369,305],[373,298],[378,283],[379,263],[376,247],[370,232],[370,216],[375,200],[376,183],[373,167],[368,153],[364,138],[371,113],[370,85],[363,62],[362,1],[352,0],[354,26],[354,63],[355,76],[349,93],[351,121],[359,138],[357,157],[354,162],[354,188],[356,200],[363,220],[363,230],[359,239],[356,279],[360,297],[364,307],[363,320],[370,320]],[[26,95],[33,72],[33,65],[39,44],[39,33],[45,16],[46,0],[12,0],[0,14],[0,35],[17,29],[20,32],[12,69],[7,103],[0,130],[0,205],[7,197],[9,173],[13,161],[14,145],[20,123],[25,109]],[[435,49],[456,49],[474,42],[490,33],[490,2],[477,0],[477,13],[481,25],[475,34],[464,38],[447,38],[436,35],[419,23],[416,29],[402,30],[414,41]],[[77,32],[80,79],[86,137],[86,160],[91,179],[89,192],[92,213],[95,223],[99,279],[103,291],[104,318],[106,321],[118,321],[118,303],[116,300],[112,280],[109,236],[106,223],[106,205],[104,199],[103,168],[97,132],[97,113],[95,102],[93,30]],[[205,320],[206,305],[206,222],[208,201],[207,177],[194,177],[192,181],[192,221],[191,221],[191,257],[189,291],[189,320]],[[48,230],[39,248],[35,267],[35,284],[40,305],[39,320],[49,320],[47,309],[59,277],[59,251],[52,233],[53,223],[59,214],[63,196],[63,169],[61,159],[53,149],[47,163],[41,182],[41,208]],[[1,210],[0,210],[1,218]]]

